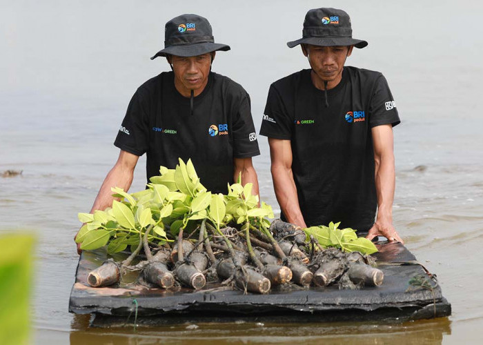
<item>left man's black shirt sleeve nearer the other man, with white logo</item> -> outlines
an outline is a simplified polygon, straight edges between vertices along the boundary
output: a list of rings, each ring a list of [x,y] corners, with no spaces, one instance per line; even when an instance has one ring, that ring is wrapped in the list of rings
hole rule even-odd
[[[257,134],[250,110],[250,96],[245,92],[233,119],[233,156],[248,158],[260,154]]]

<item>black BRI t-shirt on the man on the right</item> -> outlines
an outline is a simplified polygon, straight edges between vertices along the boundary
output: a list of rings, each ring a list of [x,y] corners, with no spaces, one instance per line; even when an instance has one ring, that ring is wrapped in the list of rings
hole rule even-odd
[[[380,72],[347,66],[327,96],[328,108],[311,70],[275,81],[260,134],[290,140],[307,226],[342,221],[341,227],[368,230],[377,208],[371,128],[400,123],[395,102]]]

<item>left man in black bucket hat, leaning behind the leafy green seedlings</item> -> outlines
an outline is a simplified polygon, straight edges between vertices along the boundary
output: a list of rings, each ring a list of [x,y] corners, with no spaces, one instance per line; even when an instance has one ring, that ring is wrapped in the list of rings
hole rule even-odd
[[[213,193],[226,193],[241,174],[258,194],[250,97],[239,84],[211,72],[215,52],[230,47],[215,43],[208,20],[195,14],[166,23],[164,46],[151,59],[166,57],[172,71],[146,81],[132,96],[115,140],[119,158],[91,212],[112,204],[111,187],[130,188],[144,153],[148,181],[159,175],[159,166],[175,168],[181,157],[193,161],[201,184]]]

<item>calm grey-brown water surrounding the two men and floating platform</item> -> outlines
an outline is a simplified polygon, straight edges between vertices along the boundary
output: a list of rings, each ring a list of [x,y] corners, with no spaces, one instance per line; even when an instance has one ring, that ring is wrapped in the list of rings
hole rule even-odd
[[[268,86],[306,68],[297,48],[306,10],[344,8],[369,46],[347,64],[380,70],[402,124],[395,128],[394,223],[437,274],[453,315],[405,324],[179,324],[89,328],[68,313],[78,256],[77,213],[90,209],[115,163],[130,96],[168,70],[149,57],[164,23],[196,12],[230,44],[213,70],[250,93],[259,128]],[[1,1],[0,232],[37,234],[35,344],[478,344],[483,337],[483,6],[471,1]],[[277,202],[268,146],[255,158],[262,199]],[[132,191],[144,188],[144,159]],[[337,221],[337,219],[334,219]]]

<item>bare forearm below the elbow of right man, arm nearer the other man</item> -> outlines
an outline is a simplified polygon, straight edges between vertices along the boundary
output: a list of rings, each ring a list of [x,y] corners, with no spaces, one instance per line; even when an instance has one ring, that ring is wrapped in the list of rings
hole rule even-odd
[[[291,170],[284,166],[272,166],[272,177],[275,196],[287,221],[306,228]]]

